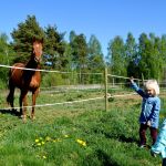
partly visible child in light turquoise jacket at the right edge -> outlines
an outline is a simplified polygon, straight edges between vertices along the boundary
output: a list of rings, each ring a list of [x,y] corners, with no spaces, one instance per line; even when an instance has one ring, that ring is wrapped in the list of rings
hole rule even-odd
[[[152,156],[160,154],[163,166],[166,166],[166,120],[163,122],[156,143],[151,148]]]

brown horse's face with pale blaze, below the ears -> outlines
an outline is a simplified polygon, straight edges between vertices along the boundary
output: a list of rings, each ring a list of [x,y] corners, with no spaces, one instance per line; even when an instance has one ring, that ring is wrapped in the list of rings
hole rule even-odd
[[[33,42],[33,53],[35,55],[35,60],[40,62],[41,55],[42,55],[42,49],[43,45],[40,41]]]

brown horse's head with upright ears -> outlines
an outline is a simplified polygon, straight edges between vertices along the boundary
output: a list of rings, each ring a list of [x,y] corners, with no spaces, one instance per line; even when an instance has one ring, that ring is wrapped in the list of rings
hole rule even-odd
[[[43,40],[33,40],[33,56],[37,63],[40,63],[43,53]]]

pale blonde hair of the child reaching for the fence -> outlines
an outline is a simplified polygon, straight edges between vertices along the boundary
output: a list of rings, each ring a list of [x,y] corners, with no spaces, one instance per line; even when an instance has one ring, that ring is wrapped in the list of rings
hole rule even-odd
[[[155,91],[155,95],[159,94],[159,86],[156,80],[148,80],[147,82],[145,82],[144,86],[145,90],[153,89]]]

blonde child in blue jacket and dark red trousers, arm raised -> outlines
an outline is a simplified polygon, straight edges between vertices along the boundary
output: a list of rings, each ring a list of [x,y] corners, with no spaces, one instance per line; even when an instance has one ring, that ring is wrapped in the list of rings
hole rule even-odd
[[[157,96],[159,94],[159,86],[156,80],[148,80],[145,83],[145,90],[143,91],[131,77],[132,87],[143,97],[142,112],[139,116],[139,147],[146,146],[146,129],[149,128],[153,144],[157,138],[157,128],[159,121],[160,100]]]

